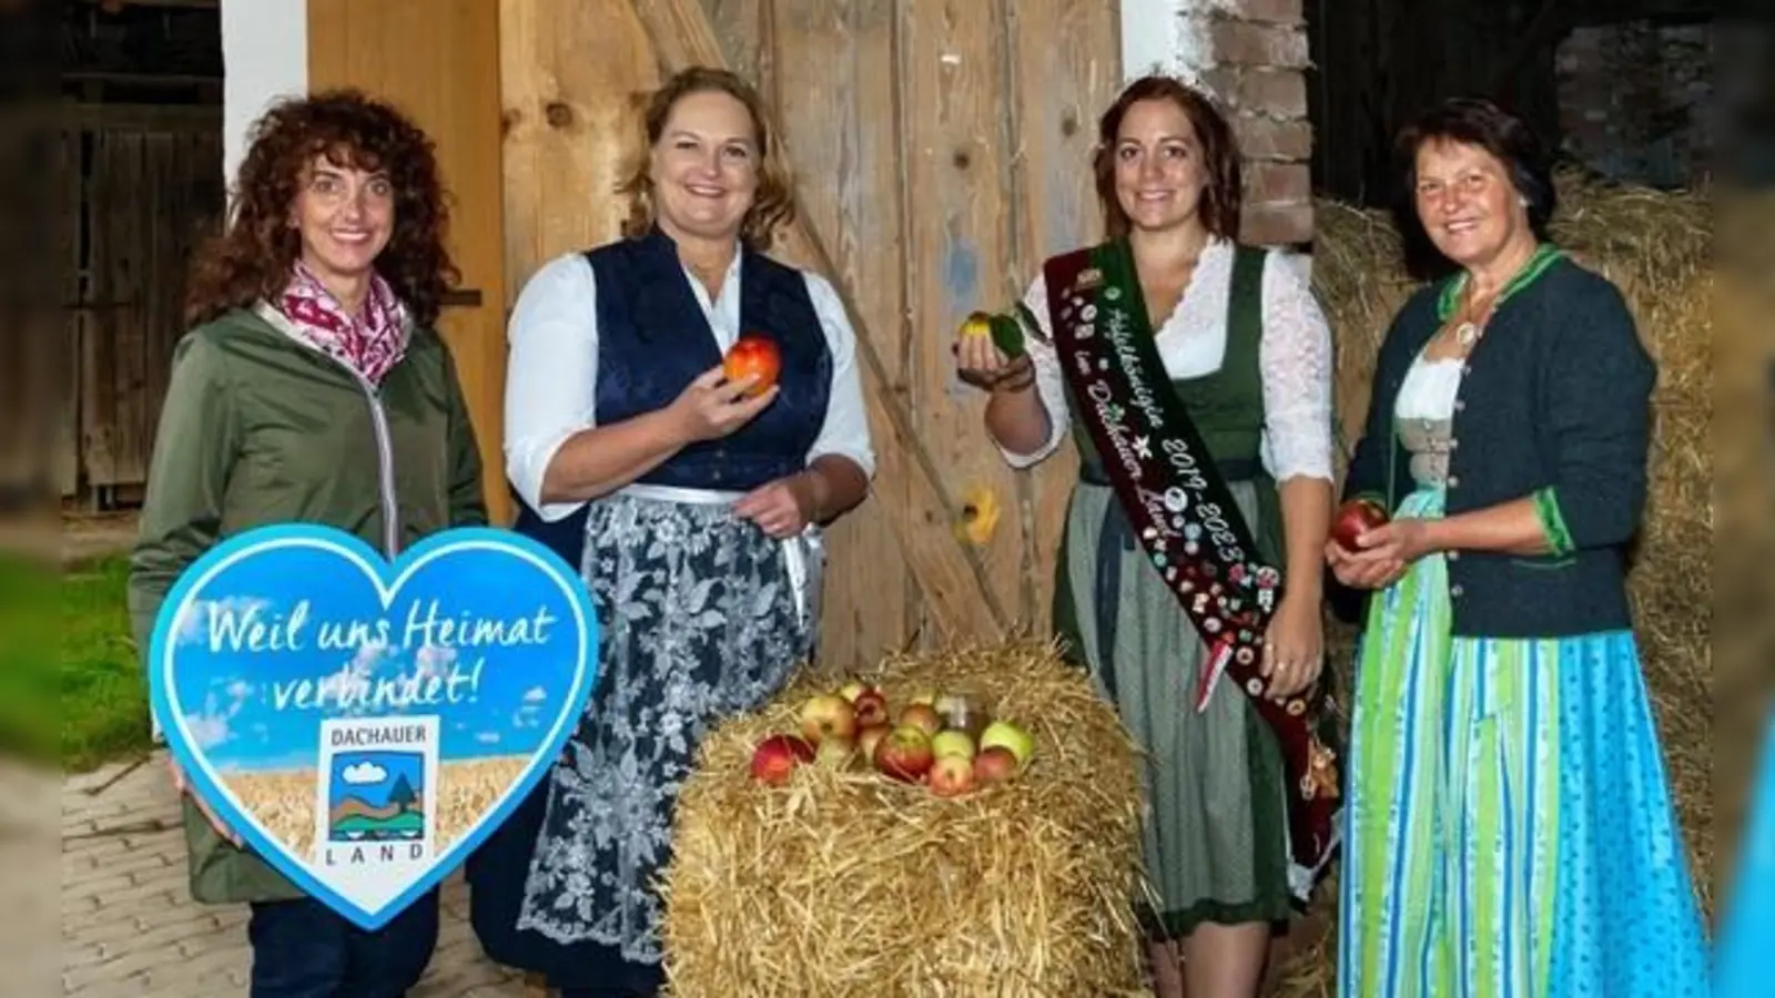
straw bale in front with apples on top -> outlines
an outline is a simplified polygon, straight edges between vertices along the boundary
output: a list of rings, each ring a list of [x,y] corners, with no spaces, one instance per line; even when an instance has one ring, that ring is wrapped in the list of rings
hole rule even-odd
[[[1035,737],[1010,783],[960,797],[873,771],[749,774],[831,677],[715,730],[678,803],[666,950],[678,998],[1143,994],[1136,748],[1049,646],[898,655],[861,677],[907,703],[983,694]]]

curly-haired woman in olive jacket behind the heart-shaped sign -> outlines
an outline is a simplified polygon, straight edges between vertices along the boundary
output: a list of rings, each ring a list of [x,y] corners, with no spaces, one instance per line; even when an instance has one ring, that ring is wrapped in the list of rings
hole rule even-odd
[[[481,463],[435,323],[456,279],[431,140],[343,91],[254,126],[225,231],[193,263],[130,613],[140,648],[179,574],[280,522],[328,524],[394,558],[486,522]],[[437,943],[437,895],[366,932],[241,847],[174,767],[192,897],[250,904],[254,998],[394,998]]]

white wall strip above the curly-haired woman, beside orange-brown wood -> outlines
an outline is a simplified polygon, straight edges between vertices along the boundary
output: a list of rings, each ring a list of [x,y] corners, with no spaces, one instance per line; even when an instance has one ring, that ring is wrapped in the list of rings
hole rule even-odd
[[[309,0],[222,0],[222,169],[233,183],[252,121],[309,89]]]

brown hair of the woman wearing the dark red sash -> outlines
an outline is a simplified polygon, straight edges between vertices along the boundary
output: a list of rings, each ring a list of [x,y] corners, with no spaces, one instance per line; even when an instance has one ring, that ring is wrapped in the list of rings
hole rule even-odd
[[[1097,121],[1097,151],[1092,156],[1092,170],[1097,174],[1097,201],[1102,202],[1104,234],[1120,240],[1127,234],[1127,213],[1115,195],[1115,144],[1122,131],[1122,119],[1127,108],[1140,101],[1172,101],[1189,115],[1189,124],[1196,130],[1196,142],[1202,144],[1202,160],[1207,165],[1207,186],[1202,190],[1202,224],[1214,236],[1234,240],[1239,236],[1239,142],[1234,139],[1227,117],[1214,107],[1214,101],[1193,91],[1172,76],[1141,76],[1129,83],[1109,105],[1109,110]]]

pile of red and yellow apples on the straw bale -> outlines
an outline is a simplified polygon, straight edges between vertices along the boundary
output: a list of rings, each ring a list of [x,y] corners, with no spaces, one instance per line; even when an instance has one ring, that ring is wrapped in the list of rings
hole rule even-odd
[[[797,721],[799,733],[770,735],[753,749],[754,780],[779,787],[802,764],[863,767],[957,797],[1012,780],[1035,751],[1028,732],[987,717],[958,693],[921,693],[895,716],[880,687],[850,682],[809,696]]]

